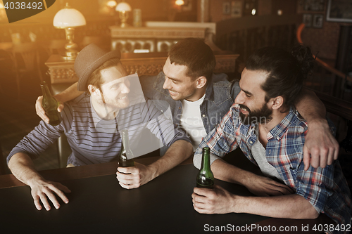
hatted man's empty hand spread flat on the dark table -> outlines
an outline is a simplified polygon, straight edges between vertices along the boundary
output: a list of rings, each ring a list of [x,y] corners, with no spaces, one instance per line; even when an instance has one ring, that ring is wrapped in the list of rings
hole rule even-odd
[[[56,200],[54,193],[56,193],[56,195],[58,195],[58,197],[60,197],[61,200],[65,202],[65,204],[68,203],[68,198],[65,196],[65,193],[71,193],[71,191],[61,183],[41,180],[28,183],[28,185],[32,189],[31,193],[34,200],[34,205],[38,210],[42,209],[42,205],[40,204],[39,200],[42,202],[44,208],[47,211],[51,209],[47,199],[48,197],[56,209],[60,208],[60,203],[58,203],[58,200]]]

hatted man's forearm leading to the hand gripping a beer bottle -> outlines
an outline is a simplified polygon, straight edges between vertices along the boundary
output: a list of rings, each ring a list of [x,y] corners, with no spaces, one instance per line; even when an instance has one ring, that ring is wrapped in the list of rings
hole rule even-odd
[[[165,152],[163,157],[149,165],[149,168],[153,171],[153,178],[160,176],[173,167],[176,167],[184,160],[187,160],[192,152],[193,147],[188,141],[175,141],[175,143],[168,148],[168,151]]]

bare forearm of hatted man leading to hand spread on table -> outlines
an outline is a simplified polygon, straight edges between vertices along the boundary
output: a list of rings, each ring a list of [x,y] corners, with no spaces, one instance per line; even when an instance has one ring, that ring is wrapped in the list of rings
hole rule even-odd
[[[15,178],[29,186],[32,181],[43,179],[34,168],[34,164],[30,157],[23,152],[18,152],[11,157],[8,162],[8,168],[11,170]]]

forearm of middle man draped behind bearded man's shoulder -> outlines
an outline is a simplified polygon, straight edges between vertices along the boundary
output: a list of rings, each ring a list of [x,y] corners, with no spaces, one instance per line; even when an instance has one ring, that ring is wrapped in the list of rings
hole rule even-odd
[[[296,100],[296,109],[306,119],[308,125],[313,122],[326,122],[325,105],[313,91],[302,90],[301,96]]]

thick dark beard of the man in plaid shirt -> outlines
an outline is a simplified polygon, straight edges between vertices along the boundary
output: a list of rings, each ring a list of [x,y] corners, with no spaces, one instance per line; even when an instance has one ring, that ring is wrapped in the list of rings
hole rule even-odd
[[[272,109],[268,108],[267,103],[264,103],[263,106],[258,110],[250,110],[246,105],[239,104],[240,108],[246,109],[249,114],[244,115],[242,112],[239,112],[239,117],[241,117],[241,121],[243,124],[268,124],[272,119]]]

